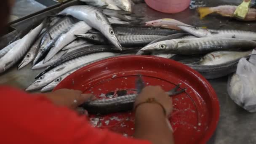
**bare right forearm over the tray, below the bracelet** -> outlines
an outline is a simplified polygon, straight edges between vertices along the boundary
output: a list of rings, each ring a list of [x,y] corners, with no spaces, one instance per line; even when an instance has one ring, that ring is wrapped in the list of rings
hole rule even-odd
[[[174,144],[172,130],[159,104],[143,104],[137,108],[134,138],[153,144]]]

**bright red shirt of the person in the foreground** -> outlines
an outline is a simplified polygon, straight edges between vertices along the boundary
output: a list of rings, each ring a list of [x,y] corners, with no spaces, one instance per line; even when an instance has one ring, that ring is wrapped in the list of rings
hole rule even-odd
[[[150,144],[93,128],[86,117],[42,95],[0,87],[0,96],[1,144]]]

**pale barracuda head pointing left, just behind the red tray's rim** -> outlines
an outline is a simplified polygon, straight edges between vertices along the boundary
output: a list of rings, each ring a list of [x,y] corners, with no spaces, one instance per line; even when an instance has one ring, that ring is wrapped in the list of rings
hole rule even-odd
[[[157,43],[152,43],[141,48],[141,51],[170,51],[178,48],[178,43],[175,40],[164,40]]]

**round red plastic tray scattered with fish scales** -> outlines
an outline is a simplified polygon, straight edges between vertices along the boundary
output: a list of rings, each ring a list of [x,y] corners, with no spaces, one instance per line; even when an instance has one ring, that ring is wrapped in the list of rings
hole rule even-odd
[[[170,122],[176,144],[205,144],[219,120],[219,101],[208,81],[195,70],[171,59],[155,56],[119,56],[83,67],[65,78],[54,90],[69,88],[93,93],[99,99],[107,93],[127,90],[134,93],[135,80],[141,74],[146,85],[160,85],[165,91],[182,83],[186,93],[173,96]],[[131,136],[134,113],[90,115],[98,128]]]

